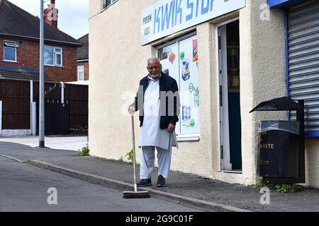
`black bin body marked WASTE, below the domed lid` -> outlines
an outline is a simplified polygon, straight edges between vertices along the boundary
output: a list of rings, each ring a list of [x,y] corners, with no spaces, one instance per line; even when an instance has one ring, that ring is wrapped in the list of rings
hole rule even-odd
[[[298,177],[298,121],[260,121],[259,177]]]

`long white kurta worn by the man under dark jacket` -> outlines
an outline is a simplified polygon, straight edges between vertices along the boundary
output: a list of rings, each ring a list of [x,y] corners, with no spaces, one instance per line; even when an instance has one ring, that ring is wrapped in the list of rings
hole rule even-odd
[[[148,79],[148,87],[144,95],[144,120],[140,136],[141,146],[155,146],[169,149],[169,143],[177,147],[175,131],[168,133],[167,129],[159,129],[160,100],[159,100],[159,78]]]

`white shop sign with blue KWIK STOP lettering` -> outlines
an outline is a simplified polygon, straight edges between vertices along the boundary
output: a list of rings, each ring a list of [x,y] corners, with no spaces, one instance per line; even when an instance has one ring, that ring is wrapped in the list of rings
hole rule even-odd
[[[245,7],[245,0],[160,0],[142,12],[142,45]]]

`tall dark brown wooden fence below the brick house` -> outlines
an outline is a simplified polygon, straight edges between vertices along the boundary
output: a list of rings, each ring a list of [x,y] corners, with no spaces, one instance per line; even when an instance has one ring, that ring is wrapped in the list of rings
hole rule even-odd
[[[89,87],[64,84],[64,101],[69,105],[70,130],[88,129]],[[30,91],[33,102],[39,100],[39,83],[33,81],[1,80],[2,129],[30,129]],[[61,102],[62,85],[45,83],[45,101]],[[37,115],[38,117],[38,115]]]

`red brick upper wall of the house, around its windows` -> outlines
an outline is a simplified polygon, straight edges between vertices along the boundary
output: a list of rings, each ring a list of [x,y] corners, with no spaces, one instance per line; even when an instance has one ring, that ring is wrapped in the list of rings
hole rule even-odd
[[[4,40],[17,42],[17,63],[4,61]],[[20,44],[19,42],[22,42]],[[77,81],[77,47],[46,43],[52,47],[62,47],[62,67],[45,66],[45,76],[55,82]],[[39,42],[32,40],[23,40],[12,37],[0,37],[0,66],[13,66],[18,68],[39,68]]]

